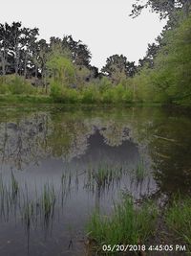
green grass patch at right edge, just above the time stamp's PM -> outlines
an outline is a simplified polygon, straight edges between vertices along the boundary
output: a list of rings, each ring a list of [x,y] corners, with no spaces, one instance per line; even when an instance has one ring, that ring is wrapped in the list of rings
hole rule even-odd
[[[165,221],[191,252],[191,198],[174,198],[166,211]]]

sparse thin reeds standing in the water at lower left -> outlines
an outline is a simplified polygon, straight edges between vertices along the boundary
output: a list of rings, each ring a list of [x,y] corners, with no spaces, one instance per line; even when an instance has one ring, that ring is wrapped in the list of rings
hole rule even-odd
[[[5,221],[9,221],[12,214],[14,217],[19,214],[27,228],[38,222],[49,225],[53,219],[56,198],[53,183],[45,183],[41,193],[35,190],[33,196],[29,194],[28,185],[19,185],[12,172],[10,182],[0,175],[0,217]]]

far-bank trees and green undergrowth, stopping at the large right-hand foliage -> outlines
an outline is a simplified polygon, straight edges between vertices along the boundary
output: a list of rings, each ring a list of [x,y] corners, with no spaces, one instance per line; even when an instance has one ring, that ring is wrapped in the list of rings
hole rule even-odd
[[[47,94],[62,103],[132,101],[126,85],[137,72],[135,62],[113,55],[98,72],[87,45],[72,35],[49,42],[38,35],[21,22],[0,24],[1,94]]]

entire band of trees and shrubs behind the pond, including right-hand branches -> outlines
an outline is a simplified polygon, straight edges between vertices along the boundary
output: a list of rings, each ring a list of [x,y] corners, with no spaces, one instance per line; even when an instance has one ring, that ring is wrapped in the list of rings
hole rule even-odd
[[[0,94],[45,94],[61,103],[191,105],[191,1],[139,3],[133,16],[150,7],[168,17],[167,25],[138,65],[113,55],[100,72],[87,45],[72,35],[47,42],[37,39],[37,28],[0,24]]]

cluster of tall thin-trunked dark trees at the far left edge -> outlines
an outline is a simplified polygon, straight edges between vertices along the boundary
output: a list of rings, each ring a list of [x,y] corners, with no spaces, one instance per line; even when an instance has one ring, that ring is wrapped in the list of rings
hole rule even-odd
[[[38,29],[22,28],[21,22],[11,25],[0,24],[0,60],[2,74],[15,73],[27,76],[32,64],[32,44],[36,40]]]

